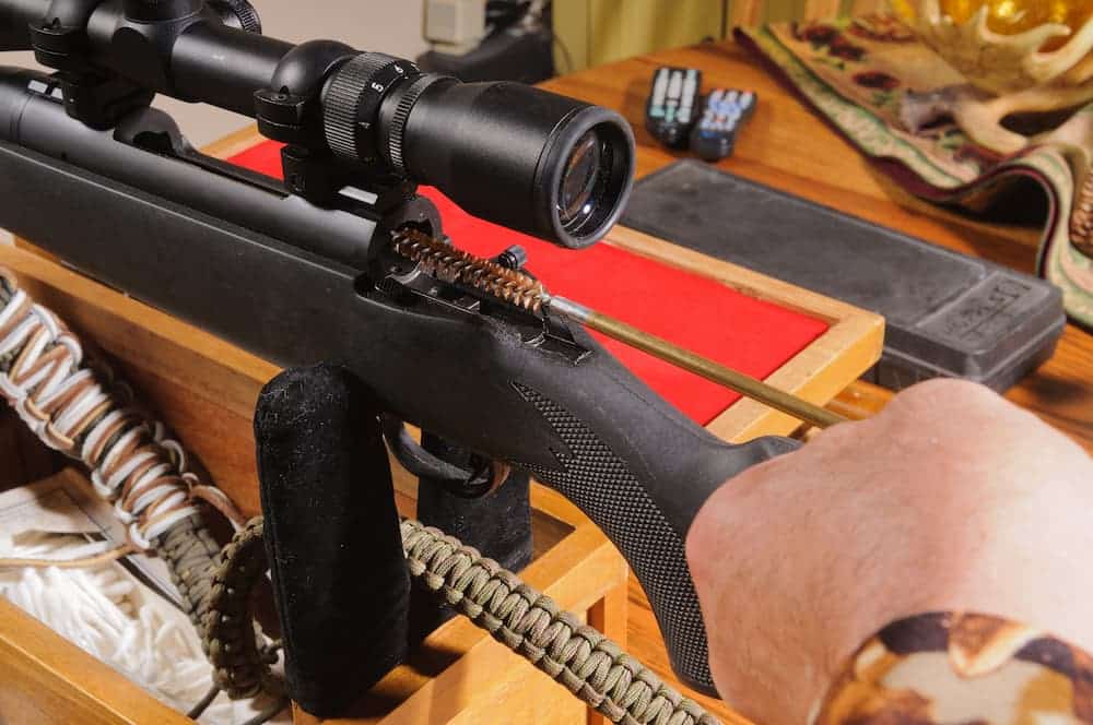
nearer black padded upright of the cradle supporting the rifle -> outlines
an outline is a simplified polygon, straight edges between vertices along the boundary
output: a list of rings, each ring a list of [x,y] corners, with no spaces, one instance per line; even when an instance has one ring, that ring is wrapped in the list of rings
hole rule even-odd
[[[282,372],[255,411],[289,694],[320,717],[407,656],[410,575],[378,414],[331,365]]]

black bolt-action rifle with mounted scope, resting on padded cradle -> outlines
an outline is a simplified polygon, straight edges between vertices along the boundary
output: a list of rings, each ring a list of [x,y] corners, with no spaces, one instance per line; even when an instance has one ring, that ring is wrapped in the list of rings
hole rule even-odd
[[[343,365],[399,420],[555,488],[630,562],[675,674],[716,693],[687,528],[795,443],[713,437],[525,294],[518,260],[448,246],[415,192],[586,247],[630,192],[621,117],[268,38],[244,0],[3,0],[20,49],[59,72],[0,68],[0,225],[274,362]],[[195,151],[156,93],[256,118],[285,181]]]

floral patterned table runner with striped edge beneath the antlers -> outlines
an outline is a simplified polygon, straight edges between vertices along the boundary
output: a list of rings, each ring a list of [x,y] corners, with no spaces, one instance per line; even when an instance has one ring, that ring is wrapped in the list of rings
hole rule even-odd
[[[738,29],[737,37],[918,197],[982,212],[1012,201],[1022,182],[1038,182],[1050,201],[1038,272],[1062,289],[1071,319],[1093,328],[1093,259],[1080,251],[1093,249],[1093,106],[1073,114],[1055,142],[1002,157],[952,122],[906,129],[908,93],[943,94],[965,81],[890,15],[767,25]]]

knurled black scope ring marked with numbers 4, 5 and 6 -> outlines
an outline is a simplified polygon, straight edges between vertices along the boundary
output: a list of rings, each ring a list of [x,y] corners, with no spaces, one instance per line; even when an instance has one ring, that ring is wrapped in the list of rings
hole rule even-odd
[[[380,104],[392,87],[419,75],[410,61],[380,52],[361,54],[334,71],[322,98],[322,129],[330,150],[351,162],[375,163]]]

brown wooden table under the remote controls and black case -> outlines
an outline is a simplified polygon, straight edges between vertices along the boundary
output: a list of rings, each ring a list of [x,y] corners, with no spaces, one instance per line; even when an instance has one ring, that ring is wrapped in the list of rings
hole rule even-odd
[[[872,169],[843,136],[732,43],[633,58],[561,78],[545,86],[621,111],[634,126],[638,176],[645,176],[684,155],[663,148],[644,129],[648,81],[658,66],[698,68],[707,86],[757,92],[755,116],[739,138],[734,155],[720,163],[722,168],[950,249],[1033,271],[1038,229],[972,221],[910,197]],[[1091,371],[1093,335],[1068,325],[1051,360],[1009,391],[1007,397],[1093,451]],[[844,411],[869,411],[885,399],[883,391],[858,383],[839,397],[838,404]],[[668,661],[655,620],[640,587],[633,581],[631,599],[633,653],[667,675]],[[702,701],[727,721],[742,722],[722,703]]]

